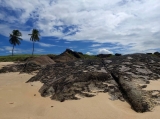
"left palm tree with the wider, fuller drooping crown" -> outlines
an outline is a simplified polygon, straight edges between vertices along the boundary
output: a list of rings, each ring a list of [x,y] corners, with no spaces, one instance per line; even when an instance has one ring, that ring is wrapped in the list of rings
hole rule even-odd
[[[10,34],[9,42],[10,42],[10,44],[13,45],[13,48],[12,48],[12,56],[13,56],[14,47],[15,47],[16,45],[21,44],[21,42],[20,42],[20,40],[22,40],[22,38],[20,38],[21,36],[22,36],[22,33],[21,33],[19,30],[13,30],[13,31],[12,31],[12,34]]]

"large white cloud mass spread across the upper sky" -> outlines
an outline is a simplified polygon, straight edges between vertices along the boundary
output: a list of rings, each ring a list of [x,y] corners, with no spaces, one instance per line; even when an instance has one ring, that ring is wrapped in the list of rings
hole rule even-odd
[[[119,43],[126,46],[121,47],[126,52],[159,48],[159,0],[0,0],[0,6],[17,13],[0,13],[0,20],[8,22],[0,27],[0,34],[5,36],[18,27],[18,22],[24,39],[29,40],[27,32],[30,33],[32,28],[26,30],[23,24],[32,18],[35,21],[33,27],[38,28],[42,36],[68,41]],[[64,26],[73,25],[76,27],[64,33]],[[130,44],[134,45],[128,47]]]

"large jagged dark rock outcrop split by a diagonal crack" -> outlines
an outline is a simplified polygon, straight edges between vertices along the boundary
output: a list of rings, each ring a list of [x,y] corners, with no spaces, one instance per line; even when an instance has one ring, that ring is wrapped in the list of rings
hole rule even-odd
[[[41,81],[44,83],[39,90],[41,95],[61,102],[108,92],[112,100],[126,100],[135,111],[146,112],[160,97],[142,90],[139,84],[159,78],[160,58],[133,54],[47,65],[27,82]]]

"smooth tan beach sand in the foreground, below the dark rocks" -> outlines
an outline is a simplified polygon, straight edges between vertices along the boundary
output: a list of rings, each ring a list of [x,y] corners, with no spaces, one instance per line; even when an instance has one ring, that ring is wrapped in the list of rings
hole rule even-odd
[[[160,106],[136,113],[126,102],[111,101],[107,93],[63,103],[41,97],[40,82],[25,83],[32,76],[0,74],[0,119],[160,119]]]

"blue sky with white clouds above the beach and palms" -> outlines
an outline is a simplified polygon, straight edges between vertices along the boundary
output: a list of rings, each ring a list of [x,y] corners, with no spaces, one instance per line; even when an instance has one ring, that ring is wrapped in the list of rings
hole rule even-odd
[[[160,52],[160,0],[0,0],[0,55],[31,54],[32,29],[40,31],[35,54]]]

